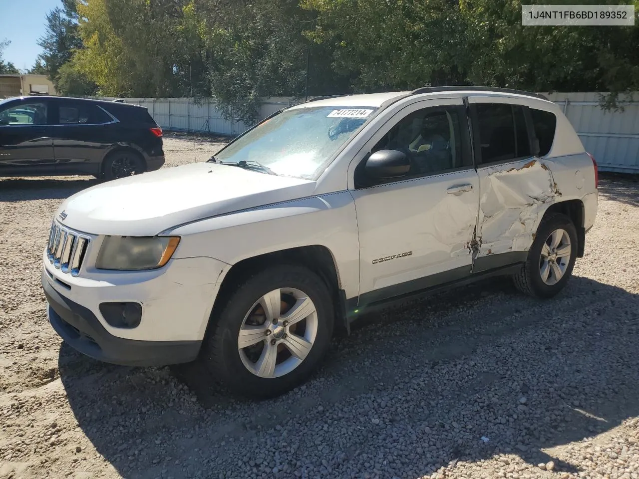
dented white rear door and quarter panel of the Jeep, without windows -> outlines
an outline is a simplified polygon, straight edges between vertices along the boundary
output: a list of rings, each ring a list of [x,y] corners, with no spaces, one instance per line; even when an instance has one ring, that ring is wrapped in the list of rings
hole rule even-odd
[[[552,147],[543,157],[528,156],[477,167],[479,209],[471,253],[475,259],[482,259],[490,255],[526,252],[550,206],[574,199],[581,201],[585,194],[596,195],[592,160],[555,103],[539,98],[503,97],[496,100],[488,95],[469,96],[468,102],[524,105],[551,112],[557,119]],[[596,200],[594,211],[592,203],[590,199],[589,213],[585,217],[596,215]],[[475,266],[473,271],[481,269]]]

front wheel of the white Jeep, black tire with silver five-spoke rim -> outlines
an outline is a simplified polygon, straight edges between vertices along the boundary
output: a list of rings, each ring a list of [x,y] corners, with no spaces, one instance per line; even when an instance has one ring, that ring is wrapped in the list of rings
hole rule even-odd
[[[307,268],[263,270],[236,287],[215,312],[197,361],[240,395],[267,398],[291,390],[328,349],[331,298],[325,282]]]

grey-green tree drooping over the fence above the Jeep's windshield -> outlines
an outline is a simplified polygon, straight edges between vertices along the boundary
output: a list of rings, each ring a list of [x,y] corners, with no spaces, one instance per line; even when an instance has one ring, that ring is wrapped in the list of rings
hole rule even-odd
[[[348,78],[331,70],[327,46],[305,38],[316,15],[296,1],[203,0],[196,5],[208,86],[227,117],[254,121],[264,96],[349,91]]]

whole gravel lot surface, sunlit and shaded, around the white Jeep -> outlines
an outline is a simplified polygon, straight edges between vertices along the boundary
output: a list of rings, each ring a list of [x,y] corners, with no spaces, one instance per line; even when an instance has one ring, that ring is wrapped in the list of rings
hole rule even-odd
[[[167,135],[167,167],[220,141]],[[50,220],[94,183],[0,180],[1,479],[639,479],[637,183],[601,182],[557,298],[492,280],[362,319],[311,381],[263,402],[98,363],[50,328]]]

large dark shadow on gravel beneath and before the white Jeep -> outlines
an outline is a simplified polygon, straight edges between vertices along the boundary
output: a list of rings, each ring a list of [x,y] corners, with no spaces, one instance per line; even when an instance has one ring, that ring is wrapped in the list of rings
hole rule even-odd
[[[576,472],[543,450],[639,415],[638,311],[639,295],[589,278],[548,301],[494,280],[360,321],[307,384],[261,402],[65,344],[59,374],[130,479],[417,478],[497,454]]]

